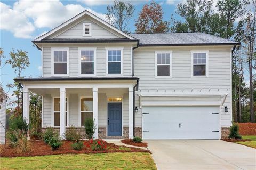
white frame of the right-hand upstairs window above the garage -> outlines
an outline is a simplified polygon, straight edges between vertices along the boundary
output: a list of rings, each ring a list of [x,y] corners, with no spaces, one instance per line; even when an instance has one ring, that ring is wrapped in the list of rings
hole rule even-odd
[[[208,68],[209,68],[209,50],[191,50],[191,78],[207,78],[208,77]],[[205,76],[194,76],[194,53],[205,53],[206,55],[206,60],[205,60]],[[195,64],[195,65],[203,65],[203,64]]]

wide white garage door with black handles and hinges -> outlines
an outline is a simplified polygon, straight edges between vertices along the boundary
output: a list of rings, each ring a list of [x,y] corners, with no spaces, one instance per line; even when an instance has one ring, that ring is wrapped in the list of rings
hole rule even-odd
[[[219,106],[143,106],[143,139],[220,139]]]

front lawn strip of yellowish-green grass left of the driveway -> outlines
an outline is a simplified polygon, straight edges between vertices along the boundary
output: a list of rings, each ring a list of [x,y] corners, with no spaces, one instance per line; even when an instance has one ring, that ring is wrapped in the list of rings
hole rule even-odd
[[[0,158],[1,169],[156,169],[149,153],[99,153]]]

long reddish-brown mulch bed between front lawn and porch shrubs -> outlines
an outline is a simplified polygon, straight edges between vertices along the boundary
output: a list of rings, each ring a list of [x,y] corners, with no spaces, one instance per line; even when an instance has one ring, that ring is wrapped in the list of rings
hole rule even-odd
[[[83,141],[85,142],[85,141]],[[89,141],[87,141],[89,142]],[[9,147],[9,145],[4,144],[0,145],[0,150],[2,153],[0,153],[0,157],[17,157],[17,156],[43,156],[43,155],[58,155],[58,154],[67,154],[67,153],[109,153],[109,152],[148,152],[149,150],[141,149],[141,148],[130,148],[125,147],[123,148],[130,148],[129,150],[120,150],[118,145],[115,145],[113,143],[107,143],[107,148],[102,151],[92,151],[91,148],[86,147],[84,145],[82,150],[76,151],[71,148],[70,141],[63,141],[63,145],[58,150],[51,150],[51,147],[47,144],[45,144],[42,140],[39,141],[30,141],[30,147],[31,151],[28,153],[16,153],[15,148]]]

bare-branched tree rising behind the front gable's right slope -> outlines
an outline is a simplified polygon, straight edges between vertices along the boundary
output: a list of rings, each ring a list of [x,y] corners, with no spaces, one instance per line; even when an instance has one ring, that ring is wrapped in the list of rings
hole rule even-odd
[[[115,0],[113,6],[107,6],[107,10],[107,21],[117,29],[128,33],[129,29],[127,26],[133,16],[134,6],[130,2]]]

